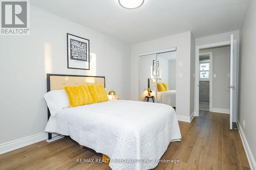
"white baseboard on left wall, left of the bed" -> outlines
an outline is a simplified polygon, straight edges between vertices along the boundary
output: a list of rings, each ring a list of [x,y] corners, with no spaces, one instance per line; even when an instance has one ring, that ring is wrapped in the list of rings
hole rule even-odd
[[[57,136],[57,134],[52,134],[52,137],[54,136]],[[48,133],[42,132],[21,139],[2,143],[0,144],[0,155],[46,139],[48,139]]]

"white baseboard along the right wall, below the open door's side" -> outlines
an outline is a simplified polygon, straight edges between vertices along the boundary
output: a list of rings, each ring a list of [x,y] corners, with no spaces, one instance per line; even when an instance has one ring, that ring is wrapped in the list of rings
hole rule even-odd
[[[240,125],[238,120],[237,120],[237,125],[238,125],[238,131],[239,131],[239,134],[240,134],[240,137],[242,139],[243,146],[244,146],[244,150],[245,150],[248,162],[250,164],[250,168],[252,170],[255,170],[256,169],[255,159],[253,158],[253,155],[252,155],[252,152],[250,150],[249,144],[248,144],[248,142],[247,142],[247,140],[245,138],[243,129],[242,129],[242,127],[241,127],[241,125]]]

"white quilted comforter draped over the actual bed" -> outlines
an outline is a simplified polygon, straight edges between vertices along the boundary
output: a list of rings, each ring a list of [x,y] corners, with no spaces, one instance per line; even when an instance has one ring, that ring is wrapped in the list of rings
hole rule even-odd
[[[172,107],[124,100],[62,109],[50,117],[45,131],[69,135],[79,144],[108,155],[110,167],[118,170],[156,167],[169,142],[181,138]],[[117,163],[118,159],[140,163]]]

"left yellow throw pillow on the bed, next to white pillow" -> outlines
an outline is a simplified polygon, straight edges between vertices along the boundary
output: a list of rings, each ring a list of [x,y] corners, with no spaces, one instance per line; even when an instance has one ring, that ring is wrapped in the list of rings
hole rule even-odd
[[[94,103],[88,85],[66,86],[64,89],[68,95],[70,107]]]

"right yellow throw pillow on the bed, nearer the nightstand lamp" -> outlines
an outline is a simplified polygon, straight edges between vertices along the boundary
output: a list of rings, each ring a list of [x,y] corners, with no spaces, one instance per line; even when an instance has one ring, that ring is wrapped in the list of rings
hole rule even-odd
[[[89,90],[95,103],[109,101],[103,85],[89,85]]]

